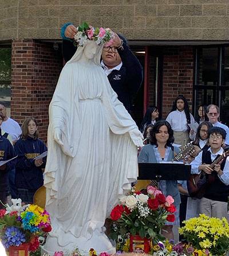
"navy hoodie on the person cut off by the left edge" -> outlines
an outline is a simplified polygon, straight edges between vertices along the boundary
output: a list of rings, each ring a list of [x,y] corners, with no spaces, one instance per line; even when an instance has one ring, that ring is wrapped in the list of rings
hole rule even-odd
[[[0,129],[0,161],[9,160],[15,157],[14,148],[9,139],[1,135]],[[6,169],[0,170],[0,191],[10,190],[9,172],[15,166],[15,160],[6,163]]]

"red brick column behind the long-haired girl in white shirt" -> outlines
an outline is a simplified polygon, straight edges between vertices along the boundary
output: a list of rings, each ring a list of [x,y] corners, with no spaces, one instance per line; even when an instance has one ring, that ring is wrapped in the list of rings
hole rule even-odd
[[[183,94],[192,106],[194,52],[192,46],[168,46],[163,60],[163,117],[171,110],[174,99]]]

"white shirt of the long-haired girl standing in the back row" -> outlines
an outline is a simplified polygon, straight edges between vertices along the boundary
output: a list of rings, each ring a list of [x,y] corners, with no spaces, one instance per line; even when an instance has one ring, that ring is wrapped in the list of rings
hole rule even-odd
[[[187,131],[187,119],[184,110],[179,111],[175,110],[168,114],[168,117],[166,118],[166,121],[168,121],[172,127],[173,131]],[[194,123],[195,119],[193,115],[190,113],[190,122]]]

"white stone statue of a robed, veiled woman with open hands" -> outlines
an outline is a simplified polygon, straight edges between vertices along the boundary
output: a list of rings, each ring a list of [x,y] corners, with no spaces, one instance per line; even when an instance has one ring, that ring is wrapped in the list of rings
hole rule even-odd
[[[86,40],[62,69],[49,106],[45,252],[78,247],[114,253],[103,231],[137,178],[142,137],[100,66],[102,44]]]

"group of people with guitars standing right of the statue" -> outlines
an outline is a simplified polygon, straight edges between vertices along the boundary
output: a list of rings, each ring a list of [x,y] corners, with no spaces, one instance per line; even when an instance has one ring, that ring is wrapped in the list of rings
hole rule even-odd
[[[183,161],[191,165],[192,174],[203,175],[204,181],[200,186],[201,195],[192,194],[184,180],[159,182],[158,188],[165,195],[172,195],[176,205],[175,222],[165,224],[164,236],[173,239],[172,226],[182,226],[183,220],[199,213],[228,218],[229,158],[226,155],[214,164],[229,146],[228,127],[218,121],[219,107],[214,104],[199,106],[195,120],[187,100],[181,95],[175,99],[166,120],[155,120],[158,119],[155,112],[158,113],[158,108],[149,106],[141,123],[145,146],[140,150],[139,162],[171,161],[184,145],[191,142],[194,150]]]

